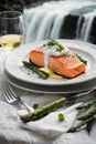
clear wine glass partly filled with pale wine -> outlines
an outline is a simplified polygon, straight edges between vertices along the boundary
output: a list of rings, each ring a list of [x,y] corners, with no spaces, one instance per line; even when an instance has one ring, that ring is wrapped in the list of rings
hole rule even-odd
[[[23,42],[23,19],[19,11],[0,12],[0,45],[9,49]]]

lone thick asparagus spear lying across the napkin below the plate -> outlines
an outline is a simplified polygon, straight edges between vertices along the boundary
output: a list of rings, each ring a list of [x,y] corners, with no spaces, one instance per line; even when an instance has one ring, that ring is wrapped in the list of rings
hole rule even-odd
[[[62,97],[62,99],[56,100],[56,101],[54,101],[45,106],[42,106],[42,107],[35,110],[33,113],[29,113],[26,115],[21,115],[20,119],[24,123],[39,120],[39,119],[47,115],[52,111],[56,110],[57,107],[62,106],[65,102],[66,102],[66,99]]]

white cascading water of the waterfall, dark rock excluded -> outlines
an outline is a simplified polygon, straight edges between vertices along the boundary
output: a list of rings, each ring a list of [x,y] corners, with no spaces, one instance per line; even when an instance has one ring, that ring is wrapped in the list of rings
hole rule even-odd
[[[90,9],[89,9],[90,8]],[[51,1],[24,10],[25,42],[49,38],[58,39],[65,18],[75,11],[78,14],[74,39],[88,41],[94,21],[96,1]],[[84,18],[84,22],[82,19]],[[82,23],[83,22],[83,23]],[[67,23],[70,24],[70,23]],[[64,32],[64,31],[63,31]]]

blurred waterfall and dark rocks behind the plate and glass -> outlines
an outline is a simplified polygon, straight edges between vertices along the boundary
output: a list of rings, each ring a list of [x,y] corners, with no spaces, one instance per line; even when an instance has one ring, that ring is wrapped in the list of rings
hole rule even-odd
[[[96,44],[96,0],[0,0],[0,11],[23,12],[25,42],[49,38]]]

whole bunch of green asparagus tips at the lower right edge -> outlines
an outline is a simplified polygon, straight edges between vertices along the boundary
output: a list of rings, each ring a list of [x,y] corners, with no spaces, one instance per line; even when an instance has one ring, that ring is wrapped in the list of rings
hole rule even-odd
[[[68,132],[75,132],[86,126],[87,131],[90,130],[93,122],[96,120],[96,100],[90,102],[86,102],[76,107],[79,112],[77,115],[77,120],[81,120],[76,126],[73,126],[68,130]]]

